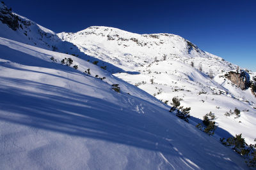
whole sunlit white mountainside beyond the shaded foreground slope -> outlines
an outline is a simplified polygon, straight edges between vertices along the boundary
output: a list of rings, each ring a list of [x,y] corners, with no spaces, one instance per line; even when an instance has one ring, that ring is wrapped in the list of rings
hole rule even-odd
[[[81,52],[122,68],[123,71],[113,71],[106,67],[157,99],[169,101],[172,106],[172,98],[179,97],[182,105],[191,107],[191,115],[199,118],[195,120],[198,123],[212,111],[218,127],[233,136],[242,133],[247,143],[255,143],[256,97],[250,88],[241,90],[223,77],[236,65],[173,34],[141,35],[111,27],[89,27],[58,36],[74,43]],[[255,73],[250,75],[252,78]],[[235,108],[241,110],[240,118],[224,115]],[[216,134],[230,136],[218,130]]]

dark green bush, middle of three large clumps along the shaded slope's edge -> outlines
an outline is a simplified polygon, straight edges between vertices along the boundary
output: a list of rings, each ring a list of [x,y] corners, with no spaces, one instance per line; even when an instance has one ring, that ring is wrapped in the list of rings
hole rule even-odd
[[[211,136],[214,134],[215,130],[217,129],[217,126],[213,121],[214,119],[215,119],[215,115],[210,111],[210,113],[207,113],[206,115],[204,115],[204,118],[202,121],[203,124],[199,123],[196,125],[196,127]]]

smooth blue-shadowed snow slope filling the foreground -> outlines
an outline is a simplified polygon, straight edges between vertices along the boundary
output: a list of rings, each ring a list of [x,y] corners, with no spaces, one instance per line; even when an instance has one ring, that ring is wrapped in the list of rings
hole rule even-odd
[[[246,169],[155,97],[90,62],[6,38],[0,50],[2,169]]]

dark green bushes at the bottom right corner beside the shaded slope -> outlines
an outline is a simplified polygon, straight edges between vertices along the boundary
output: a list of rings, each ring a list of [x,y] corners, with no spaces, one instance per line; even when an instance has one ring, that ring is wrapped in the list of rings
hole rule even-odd
[[[236,134],[235,137],[221,138],[221,143],[229,148],[232,148],[235,152],[239,153],[249,167],[256,167],[256,144],[247,145],[242,138],[242,134]]]

